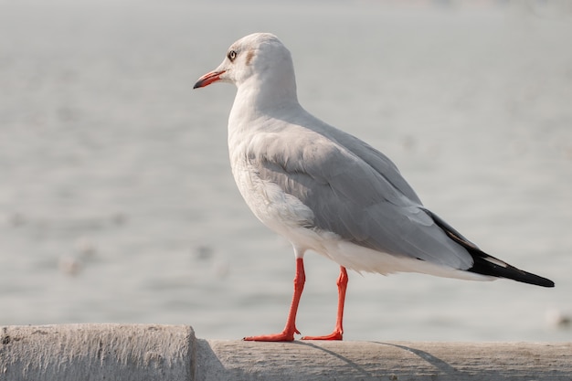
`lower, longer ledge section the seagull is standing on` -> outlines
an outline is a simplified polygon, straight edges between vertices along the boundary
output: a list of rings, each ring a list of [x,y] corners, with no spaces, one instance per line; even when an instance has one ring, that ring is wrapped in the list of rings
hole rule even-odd
[[[197,340],[196,380],[572,380],[572,344]]]

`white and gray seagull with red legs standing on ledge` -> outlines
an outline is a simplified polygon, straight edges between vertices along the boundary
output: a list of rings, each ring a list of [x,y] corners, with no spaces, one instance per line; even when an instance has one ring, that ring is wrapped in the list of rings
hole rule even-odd
[[[371,145],[305,111],[290,51],[255,33],[228,48],[211,83],[237,86],[228,117],[232,174],[252,213],[294,249],[294,293],[281,333],[248,341],[294,340],[307,250],[340,265],[334,332],[302,340],[342,340],[347,270],[418,272],[461,280],[505,278],[543,287],[552,280],[486,254],[423,206],[396,164]]]

